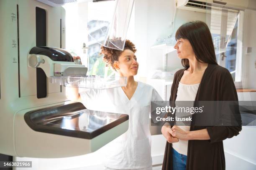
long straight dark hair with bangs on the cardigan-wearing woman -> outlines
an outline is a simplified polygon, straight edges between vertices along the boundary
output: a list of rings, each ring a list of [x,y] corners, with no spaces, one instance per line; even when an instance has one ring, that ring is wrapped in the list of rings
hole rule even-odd
[[[189,40],[197,61],[216,64],[216,56],[214,46],[212,42],[211,32],[202,21],[191,21],[183,24],[179,27],[175,35],[176,40],[184,38]],[[189,67],[189,60],[187,58],[182,59],[183,67]]]

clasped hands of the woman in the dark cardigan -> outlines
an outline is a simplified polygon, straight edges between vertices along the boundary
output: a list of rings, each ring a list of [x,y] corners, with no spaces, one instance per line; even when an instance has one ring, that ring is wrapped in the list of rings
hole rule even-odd
[[[162,134],[169,143],[176,143],[180,140],[189,140],[189,131],[182,130],[178,126],[163,126],[161,129]]]

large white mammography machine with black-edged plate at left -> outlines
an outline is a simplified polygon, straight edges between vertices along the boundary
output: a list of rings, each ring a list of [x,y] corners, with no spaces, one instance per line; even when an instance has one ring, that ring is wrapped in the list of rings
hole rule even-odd
[[[125,133],[128,115],[87,110],[67,100],[64,86],[121,87],[126,77],[86,76],[87,68],[63,50],[64,8],[39,1],[0,1],[0,153],[63,158],[94,152]]]

